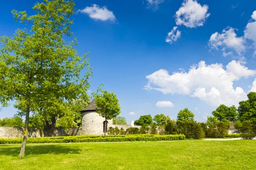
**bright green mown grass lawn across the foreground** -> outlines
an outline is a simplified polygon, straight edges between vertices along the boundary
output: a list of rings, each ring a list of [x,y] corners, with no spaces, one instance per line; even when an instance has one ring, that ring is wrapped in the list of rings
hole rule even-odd
[[[0,170],[256,169],[256,140],[0,145]]]

